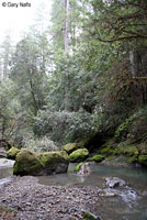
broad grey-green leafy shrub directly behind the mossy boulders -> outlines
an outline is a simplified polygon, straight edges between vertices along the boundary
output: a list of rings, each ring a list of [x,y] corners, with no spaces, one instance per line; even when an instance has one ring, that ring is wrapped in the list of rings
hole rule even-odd
[[[83,110],[78,112],[39,111],[34,119],[34,133],[49,135],[60,144],[81,141],[97,132],[98,118]]]

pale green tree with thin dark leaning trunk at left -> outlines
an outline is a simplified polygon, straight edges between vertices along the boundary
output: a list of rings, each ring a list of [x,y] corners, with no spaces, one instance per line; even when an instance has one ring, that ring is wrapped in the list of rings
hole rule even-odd
[[[34,38],[27,36],[18,43],[12,57],[11,78],[16,82],[22,106],[35,116],[44,105],[45,73],[39,69],[39,51]]]

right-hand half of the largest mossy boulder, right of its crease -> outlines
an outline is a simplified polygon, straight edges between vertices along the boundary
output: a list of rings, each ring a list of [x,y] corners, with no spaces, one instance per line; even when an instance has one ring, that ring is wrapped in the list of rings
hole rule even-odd
[[[41,163],[44,164],[45,175],[66,173],[69,165],[69,157],[65,151],[46,152],[39,156]]]

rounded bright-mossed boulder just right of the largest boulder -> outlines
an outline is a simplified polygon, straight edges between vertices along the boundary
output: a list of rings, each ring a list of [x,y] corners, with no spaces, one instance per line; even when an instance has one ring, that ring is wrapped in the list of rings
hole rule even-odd
[[[70,155],[69,155],[69,160],[70,162],[75,163],[75,162],[82,162],[84,161],[87,157],[89,156],[89,151],[87,148],[79,148],[77,151],[74,151]]]

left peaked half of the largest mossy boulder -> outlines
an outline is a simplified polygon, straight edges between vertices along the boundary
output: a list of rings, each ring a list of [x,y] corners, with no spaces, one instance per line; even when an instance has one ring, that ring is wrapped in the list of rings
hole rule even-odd
[[[14,175],[37,175],[43,167],[35,154],[29,150],[22,150],[15,157]]]

